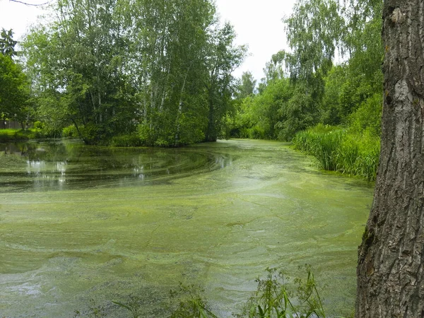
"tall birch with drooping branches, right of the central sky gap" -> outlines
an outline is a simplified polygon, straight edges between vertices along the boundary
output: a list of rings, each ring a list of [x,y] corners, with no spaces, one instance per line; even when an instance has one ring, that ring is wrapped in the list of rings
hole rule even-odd
[[[297,131],[318,122],[324,77],[333,65],[343,32],[344,20],[339,11],[333,0],[300,0],[292,15],[283,20],[292,52],[279,52],[274,59],[288,68],[295,92],[281,110],[281,139],[290,140]]]

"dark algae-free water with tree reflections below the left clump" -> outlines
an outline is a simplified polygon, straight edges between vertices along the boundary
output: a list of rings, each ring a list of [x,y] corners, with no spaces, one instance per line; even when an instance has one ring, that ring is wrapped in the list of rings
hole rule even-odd
[[[143,185],[231,164],[230,156],[196,148],[112,149],[76,141],[2,144],[0,191]]]

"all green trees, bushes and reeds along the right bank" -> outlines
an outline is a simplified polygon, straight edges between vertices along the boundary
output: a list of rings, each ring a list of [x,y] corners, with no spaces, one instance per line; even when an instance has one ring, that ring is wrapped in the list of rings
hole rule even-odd
[[[291,51],[274,54],[257,94],[237,100],[228,135],[294,137],[296,148],[315,155],[322,168],[375,179],[381,14],[382,1],[298,0],[283,19]],[[336,54],[345,61],[334,65]],[[324,125],[339,128],[324,132]]]

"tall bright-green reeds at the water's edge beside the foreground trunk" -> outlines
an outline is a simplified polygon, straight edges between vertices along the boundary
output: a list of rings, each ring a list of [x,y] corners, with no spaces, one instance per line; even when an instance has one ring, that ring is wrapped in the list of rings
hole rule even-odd
[[[324,170],[375,180],[379,160],[379,137],[353,134],[334,126],[318,125],[300,131],[293,139],[296,149],[317,158]]]

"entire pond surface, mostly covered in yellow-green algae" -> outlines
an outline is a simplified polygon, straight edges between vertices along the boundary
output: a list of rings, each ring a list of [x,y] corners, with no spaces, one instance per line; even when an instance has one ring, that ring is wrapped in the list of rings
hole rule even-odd
[[[329,314],[349,314],[371,202],[370,184],[279,142],[0,144],[0,317],[72,317],[90,299],[126,317],[110,300],[129,295],[160,317],[179,282],[230,317],[267,267],[302,264]]]

